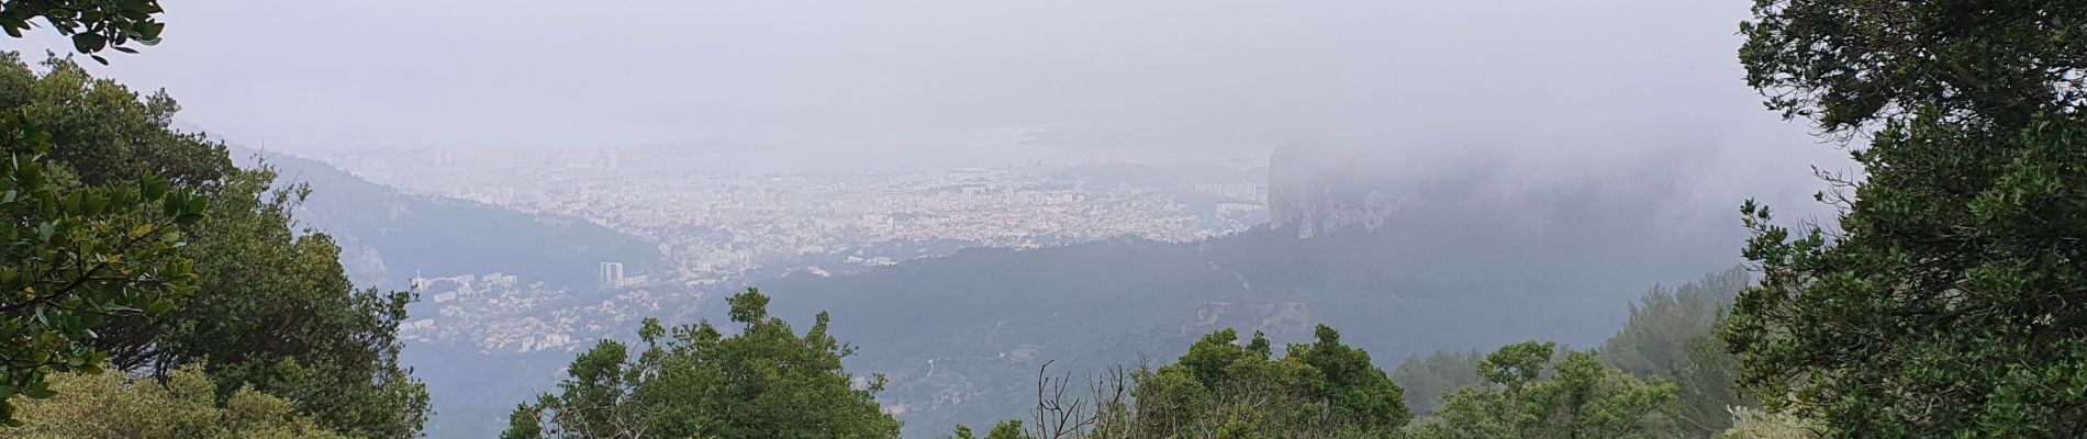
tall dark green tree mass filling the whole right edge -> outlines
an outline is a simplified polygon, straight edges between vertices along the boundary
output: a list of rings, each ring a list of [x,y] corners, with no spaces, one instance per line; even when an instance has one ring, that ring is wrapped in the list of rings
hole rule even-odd
[[[1834,225],[1743,206],[1741,381],[1841,437],[2087,437],[2087,2],[1753,12],[1749,83],[1868,144]]]

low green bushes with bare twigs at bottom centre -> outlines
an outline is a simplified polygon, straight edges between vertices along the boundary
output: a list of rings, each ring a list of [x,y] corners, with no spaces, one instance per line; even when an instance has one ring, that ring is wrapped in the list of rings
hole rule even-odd
[[[1273,358],[1261,333],[1242,345],[1238,331],[1223,329],[1175,364],[1114,368],[1087,383],[1085,397],[1066,395],[1071,375],[1046,372],[1029,422],[1000,422],[987,437],[1386,437],[1413,418],[1405,391],[1369,352],[1340,343],[1323,325],[1313,343],[1288,345],[1284,358]]]

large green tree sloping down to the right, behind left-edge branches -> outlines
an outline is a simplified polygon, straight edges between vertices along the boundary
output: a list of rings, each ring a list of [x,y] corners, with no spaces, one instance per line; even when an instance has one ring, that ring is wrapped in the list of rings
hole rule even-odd
[[[157,379],[205,364],[219,397],[250,385],[340,433],[419,433],[428,395],[399,366],[397,339],[411,295],[355,289],[332,239],[294,229],[303,187],[278,187],[267,169],[236,169],[223,144],[173,131],[179,104],[167,94],[134,94],[67,58],[44,60],[44,73],[13,52],[0,60],[0,110],[33,114],[50,133],[50,175],[209,196],[209,210],[179,225],[196,289],[165,314],[106,318],[79,343]]]

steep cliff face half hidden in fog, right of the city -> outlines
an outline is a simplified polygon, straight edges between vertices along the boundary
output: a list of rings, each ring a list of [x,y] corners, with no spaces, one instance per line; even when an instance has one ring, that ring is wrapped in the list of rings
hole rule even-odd
[[[1284,146],[1269,156],[1269,227],[1315,237],[1375,231],[1411,204],[1377,166],[1386,158],[1325,146]]]

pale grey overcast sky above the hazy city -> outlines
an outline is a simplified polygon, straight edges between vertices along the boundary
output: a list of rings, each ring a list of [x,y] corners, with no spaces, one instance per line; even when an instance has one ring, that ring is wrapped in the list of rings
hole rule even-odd
[[[163,44],[94,71],[280,152],[1265,158],[1311,141],[1557,175],[1843,156],[1745,87],[1745,0],[165,6]]]

